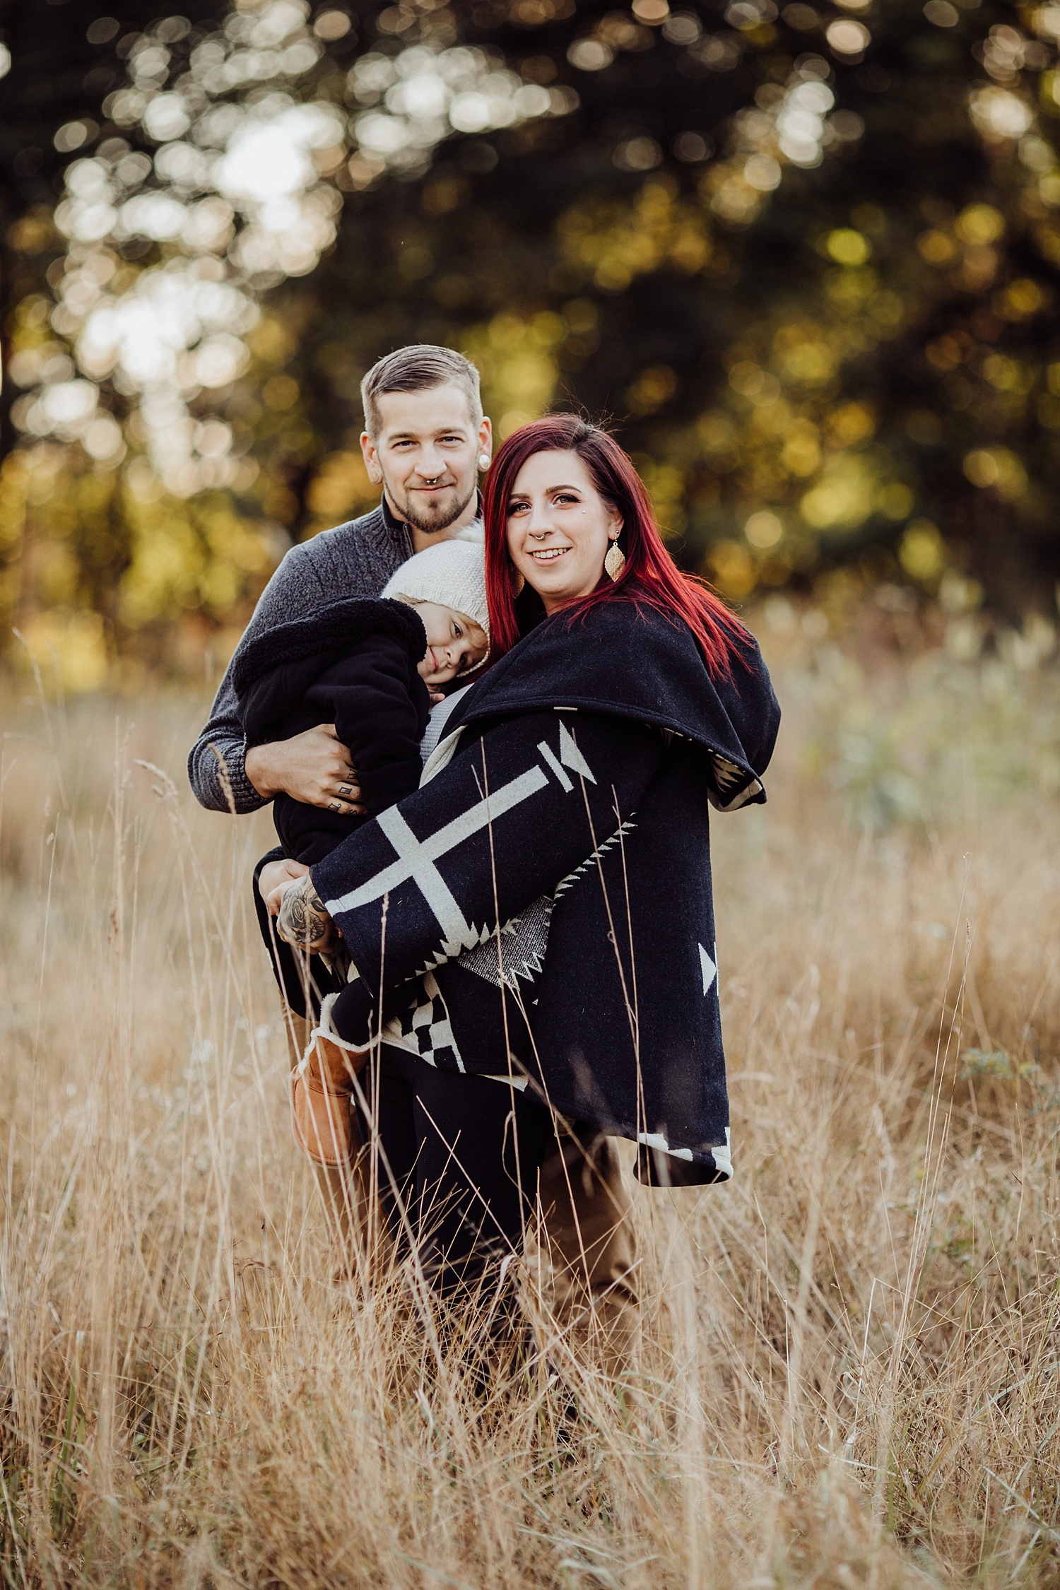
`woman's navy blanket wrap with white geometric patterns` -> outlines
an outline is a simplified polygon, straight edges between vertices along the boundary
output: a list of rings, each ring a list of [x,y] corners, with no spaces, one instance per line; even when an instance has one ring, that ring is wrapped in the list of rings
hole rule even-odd
[[[337,1030],[528,1078],[642,1180],[728,1178],[709,809],[764,801],[779,720],[750,636],[723,679],[628,601],[540,623],[420,790],[313,867],[356,968]]]

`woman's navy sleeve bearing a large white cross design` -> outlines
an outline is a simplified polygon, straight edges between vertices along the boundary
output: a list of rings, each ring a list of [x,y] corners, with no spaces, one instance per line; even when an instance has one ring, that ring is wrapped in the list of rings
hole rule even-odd
[[[529,712],[488,730],[427,785],[313,867],[359,973],[335,1021],[367,1043],[388,991],[491,938],[617,836],[664,741],[596,712]]]

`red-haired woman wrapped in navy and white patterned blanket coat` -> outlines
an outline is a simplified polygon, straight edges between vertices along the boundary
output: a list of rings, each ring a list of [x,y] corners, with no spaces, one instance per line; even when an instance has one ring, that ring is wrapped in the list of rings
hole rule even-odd
[[[518,1251],[540,1181],[542,1202],[566,1199],[550,1229],[572,1231],[559,1293],[604,1299],[628,1342],[605,1138],[639,1145],[650,1185],[731,1175],[707,811],[764,800],[779,709],[755,641],[675,568],[604,431],[556,415],[515,432],[485,534],[489,671],[421,789],[273,905],[291,941],[342,933],[351,981],[323,1026],[381,1040],[361,1097],[393,1207],[421,1235],[440,1212],[423,1235],[437,1285]],[[607,1194],[590,1240],[578,1186]]]

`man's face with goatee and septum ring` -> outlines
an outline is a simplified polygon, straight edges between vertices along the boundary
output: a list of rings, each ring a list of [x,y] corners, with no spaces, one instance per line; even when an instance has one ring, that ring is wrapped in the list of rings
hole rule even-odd
[[[489,421],[475,425],[459,386],[377,398],[378,432],[361,437],[372,480],[381,480],[396,514],[413,531],[434,536],[469,512],[480,458],[489,456]]]

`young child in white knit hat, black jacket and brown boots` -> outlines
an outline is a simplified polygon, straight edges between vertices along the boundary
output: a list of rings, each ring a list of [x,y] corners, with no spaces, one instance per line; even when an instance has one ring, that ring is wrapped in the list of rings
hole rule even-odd
[[[334,723],[361,785],[364,811],[351,814],[277,795],[273,820],[284,855],[313,865],[418,789],[431,693],[472,674],[488,650],[483,549],[469,541],[442,541],[408,558],[378,599],[326,603],[246,647],[232,676],[246,744]],[[270,952],[275,965],[272,944]],[[281,965],[277,976],[283,984]],[[284,995],[297,1008],[294,991]],[[294,1137],[324,1165],[350,1158],[350,1092],[359,1064],[332,1037],[315,1030],[291,1076]]]

